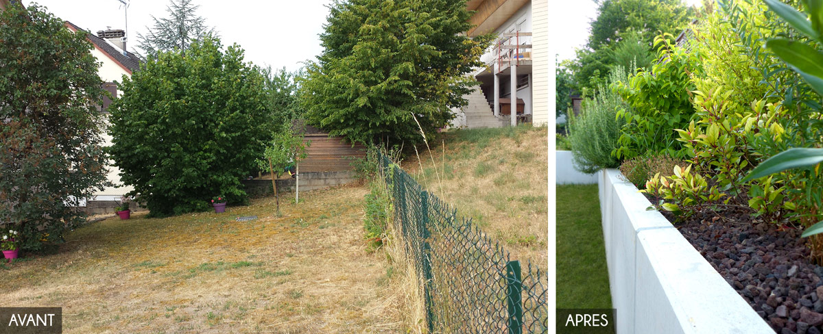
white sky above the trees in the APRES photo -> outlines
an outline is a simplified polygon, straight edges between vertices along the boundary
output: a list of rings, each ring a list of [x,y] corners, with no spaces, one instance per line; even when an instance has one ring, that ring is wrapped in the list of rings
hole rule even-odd
[[[687,5],[701,6],[700,0],[686,0]],[[551,34],[549,37],[552,51],[557,54],[558,60],[573,59],[574,50],[581,48],[588,39],[588,29],[591,21],[597,17],[597,4],[592,0],[571,0],[554,2],[556,5],[549,9],[554,31],[562,33]]]

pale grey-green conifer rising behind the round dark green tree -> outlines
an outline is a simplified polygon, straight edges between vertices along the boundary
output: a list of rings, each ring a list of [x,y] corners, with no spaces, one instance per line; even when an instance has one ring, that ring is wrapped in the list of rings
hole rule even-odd
[[[175,48],[185,53],[193,41],[207,35],[215,35],[214,28],[208,27],[206,20],[195,14],[199,7],[193,5],[192,0],[170,0],[169,6],[166,7],[169,17],[158,20],[151,16],[155,21],[154,27],[149,29],[146,36],[137,33],[137,48],[142,49],[142,56],[156,57],[160,51],[171,51]]]

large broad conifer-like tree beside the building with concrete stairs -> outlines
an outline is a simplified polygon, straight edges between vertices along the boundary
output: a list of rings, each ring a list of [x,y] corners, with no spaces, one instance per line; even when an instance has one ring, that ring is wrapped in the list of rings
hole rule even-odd
[[[421,142],[467,103],[490,36],[465,34],[461,0],[351,0],[331,7],[301,85],[309,124],[365,143]],[[415,120],[416,118],[416,120]]]

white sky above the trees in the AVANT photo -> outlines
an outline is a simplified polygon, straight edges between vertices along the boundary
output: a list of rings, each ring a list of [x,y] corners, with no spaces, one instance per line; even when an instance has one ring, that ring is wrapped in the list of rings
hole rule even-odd
[[[129,0],[124,0],[129,2]],[[123,5],[118,0],[25,0],[36,2],[65,21],[96,34],[97,30],[124,29]],[[216,28],[224,45],[238,43],[245,60],[260,66],[285,66],[295,71],[300,62],[314,60],[323,51],[319,34],[323,32],[332,0],[300,1],[213,1],[194,0],[199,16]],[[146,34],[154,25],[151,16],[167,17],[169,0],[134,0],[128,6],[128,51],[137,46],[137,33]],[[227,5],[228,4],[228,5]]]

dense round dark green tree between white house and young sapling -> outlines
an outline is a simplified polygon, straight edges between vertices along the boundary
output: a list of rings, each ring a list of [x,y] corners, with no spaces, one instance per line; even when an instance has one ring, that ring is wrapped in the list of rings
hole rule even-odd
[[[185,56],[159,53],[119,89],[111,153],[152,215],[205,210],[217,194],[247,200],[240,179],[255,170],[274,125],[263,76],[242,49],[224,52],[207,37]]]

